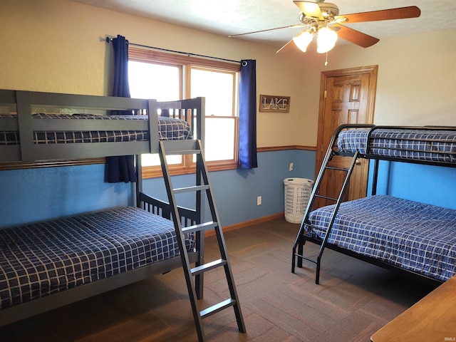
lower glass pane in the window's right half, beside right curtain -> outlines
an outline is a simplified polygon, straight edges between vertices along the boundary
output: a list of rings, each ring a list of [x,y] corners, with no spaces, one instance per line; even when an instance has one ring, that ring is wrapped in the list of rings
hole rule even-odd
[[[234,118],[206,118],[204,158],[234,160]]]

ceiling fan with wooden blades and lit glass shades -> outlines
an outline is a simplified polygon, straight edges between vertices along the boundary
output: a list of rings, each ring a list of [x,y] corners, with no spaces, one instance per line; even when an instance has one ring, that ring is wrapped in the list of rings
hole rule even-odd
[[[366,33],[356,31],[353,28],[344,26],[347,23],[362,23],[366,21],[382,21],[390,19],[418,18],[421,11],[417,6],[401,7],[398,9],[383,9],[380,11],[369,11],[356,14],[344,14],[339,16],[338,6],[325,3],[324,0],[293,1],[299,7],[299,21],[301,24],[269,28],[261,31],[234,34],[229,37],[244,36],[251,33],[259,33],[277,30],[280,28],[304,27],[298,36],[295,36],[288,43],[282,46],[277,53],[289,51],[297,46],[301,51],[306,52],[307,46],[314,36],[317,37],[317,52],[326,53],[336,44],[338,37],[350,41],[363,48],[373,46],[380,39],[369,36]]]

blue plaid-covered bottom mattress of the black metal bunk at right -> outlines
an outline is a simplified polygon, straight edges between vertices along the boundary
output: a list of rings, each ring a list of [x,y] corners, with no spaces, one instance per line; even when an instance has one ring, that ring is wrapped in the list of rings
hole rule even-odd
[[[323,239],[332,213],[311,212],[306,234]],[[388,195],[344,202],[328,243],[445,281],[456,274],[456,210]]]

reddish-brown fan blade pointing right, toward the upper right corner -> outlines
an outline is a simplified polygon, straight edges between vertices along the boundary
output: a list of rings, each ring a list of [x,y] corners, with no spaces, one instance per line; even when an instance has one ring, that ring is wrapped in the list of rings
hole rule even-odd
[[[346,18],[346,22],[348,23],[363,23],[366,21],[418,18],[420,14],[421,10],[417,6],[408,6],[400,7],[399,9],[383,9],[380,11],[346,14],[339,17]]]

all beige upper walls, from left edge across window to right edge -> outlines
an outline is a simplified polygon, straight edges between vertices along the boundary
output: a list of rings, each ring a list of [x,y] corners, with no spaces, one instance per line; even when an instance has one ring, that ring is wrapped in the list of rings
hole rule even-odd
[[[132,43],[257,60],[257,95],[291,96],[290,113],[258,113],[258,147],[315,145],[323,70],[378,65],[375,123],[456,125],[456,31],[346,45],[324,56],[276,48],[120,14],[66,0],[4,0],[0,11],[0,88],[110,94],[112,46]]]

